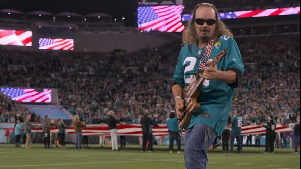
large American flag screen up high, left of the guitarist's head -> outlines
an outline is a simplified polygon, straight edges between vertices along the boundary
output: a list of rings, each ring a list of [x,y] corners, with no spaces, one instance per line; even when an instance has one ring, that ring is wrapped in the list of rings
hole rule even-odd
[[[182,32],[183,5],[140,6],[138,7],[138,29],[144,31]]]

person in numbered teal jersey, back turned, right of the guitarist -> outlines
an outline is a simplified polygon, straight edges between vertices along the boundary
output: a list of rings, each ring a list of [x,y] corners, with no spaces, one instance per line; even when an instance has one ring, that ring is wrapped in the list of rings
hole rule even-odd
[[[231,140],[230,140],[230,153],[233,152],[233,146],[234,146],[234,139],[237,140],[237,152],[241,152],[241,126],[243,123],[243,117],[239,115],[239,112],[237,110],[234,111],[233,117],[231,119]]]

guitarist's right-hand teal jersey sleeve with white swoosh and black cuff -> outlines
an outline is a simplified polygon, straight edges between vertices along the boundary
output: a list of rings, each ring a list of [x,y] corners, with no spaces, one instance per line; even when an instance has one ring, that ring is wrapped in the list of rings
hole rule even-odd
[[[234,39],[228,39],[228,53],[225,57],[225,62],[223,65],[223,71],[231,70],[236,74],[236,81],[232,84],[228,84],[232,88],[237,88],[242,74],[244,73],[244,64],[240,55],[240,50]]]

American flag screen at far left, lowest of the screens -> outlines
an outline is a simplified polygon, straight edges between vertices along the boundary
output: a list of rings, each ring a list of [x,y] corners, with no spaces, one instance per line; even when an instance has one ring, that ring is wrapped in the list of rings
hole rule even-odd
[[[38,92],[28,88],[1,88],[1,92],[17,102],[51,103],[51,89]]]

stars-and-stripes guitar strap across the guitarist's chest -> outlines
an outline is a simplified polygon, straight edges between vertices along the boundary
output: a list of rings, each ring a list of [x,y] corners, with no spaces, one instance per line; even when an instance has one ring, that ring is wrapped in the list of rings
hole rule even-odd
[[[205,67],[206,67],[206,64],[209,60],[209,57],[210,57],[210,54],[211,54],[211,51],[213,49],[213,44],[215,42],[215,39],[216,38],[212,38],[209,43],[204,47],[206,49],[205,52],[202,52],[203,50],[199,50],[199,58],[200,58],[200,66],[199,66],[199,69],[201,70],[204,70]],[[204,49],[203,48],[203,49]]]

